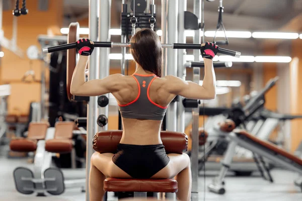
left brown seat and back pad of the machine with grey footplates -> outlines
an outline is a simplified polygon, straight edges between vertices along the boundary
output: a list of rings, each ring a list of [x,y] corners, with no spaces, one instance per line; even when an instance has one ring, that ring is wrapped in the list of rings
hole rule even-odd
[[[45,139],[48,122],[32,122],[29,124],[27,138],[16,138],[10,143],[10,149],[18,152],[31,152],[37,149],[38,140]]]

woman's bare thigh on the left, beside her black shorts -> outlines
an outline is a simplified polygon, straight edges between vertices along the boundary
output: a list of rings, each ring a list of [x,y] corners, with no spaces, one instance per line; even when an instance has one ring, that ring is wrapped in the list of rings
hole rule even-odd
[[[115,178],[131,178],[129,174],[123,171],[121,168],[116,166],[112,161],[112,153],[103,153],[98,152],[93,153],[91,157],[91,163],[98,170],[100,170],[106,177],[115,177]]]

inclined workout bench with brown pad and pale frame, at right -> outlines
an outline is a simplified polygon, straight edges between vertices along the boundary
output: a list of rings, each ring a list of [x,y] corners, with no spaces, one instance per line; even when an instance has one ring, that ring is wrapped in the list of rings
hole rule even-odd
[[[273,182],[273,179],[263,162],[264,157],[282,165],[286,169],[298,172],[299,174],[302,173],[302,160],[300,158],[290,154],[289,152],[277,147],[272,143],[254,137],[244,130],[235,129],[263,106],[264,101],[260,97],[263,96],[270,88],[272,88],[276,81],[277,78],[270,80],[265,88],[256,97],[252,98],[241,112],[237,111],[238,113],[236,115],[232,115],[230,113],[228,118],[223,123],[216,125],[211,131],[208,131],[209,133],[220,133],[220,135],[225,135],[231,140],[228,150],[226,150],[224,158],[221,162],[222,168],[219,172],[219,175],[214,178],[210,185],[208,185],[208,189],[211,192],[219,194],[223,194],[225,192],[224,177],[226,171],[228,171],[230,164],[232,163],[232,158],[235,154],[235,148],[237,145],[254,153],[254,159],[259,166],[259,170],[262,173],[263,178],[269,180],[270,182]],[[302,183],[300,183],[300,186],[302,186]]]

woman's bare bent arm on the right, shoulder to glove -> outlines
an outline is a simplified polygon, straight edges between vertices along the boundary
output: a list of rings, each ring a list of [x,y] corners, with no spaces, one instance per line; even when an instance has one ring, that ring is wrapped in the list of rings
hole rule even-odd
[[[190,99],[214,99],[216,96],[216,78],[213,61],[204,58],[204,78],[202,85],[185,81],[179,77],[166,76],[164,87],[169,93]]]

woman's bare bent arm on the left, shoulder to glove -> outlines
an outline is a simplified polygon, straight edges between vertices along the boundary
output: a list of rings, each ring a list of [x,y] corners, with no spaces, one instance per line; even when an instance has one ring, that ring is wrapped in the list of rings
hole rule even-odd
[[[73,95],[96,96],[116,92],[122,85],[123,75],[113,74],[103,79],[85,80],[85,70],[89,56],[80,56],[79,62],[73,71],[70,92]]]

